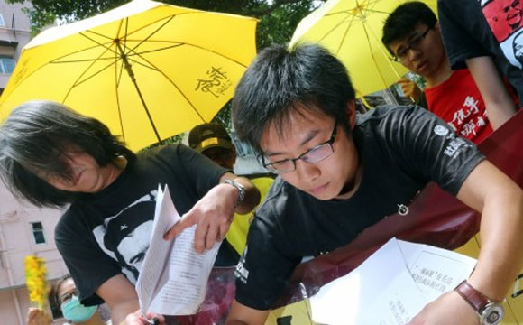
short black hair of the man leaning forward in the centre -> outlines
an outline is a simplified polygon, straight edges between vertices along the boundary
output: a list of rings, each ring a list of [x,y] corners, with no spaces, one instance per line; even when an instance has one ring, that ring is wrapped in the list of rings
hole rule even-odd
[[[271,45],[256,56],[236,87],[234,129],[258,153],[263,130],[276,125],[282,135],[292,112],[331,116],[350,132],[347,103],[353,99],[344,64],[326,49],[313,44],[298,44],[290,50]]]

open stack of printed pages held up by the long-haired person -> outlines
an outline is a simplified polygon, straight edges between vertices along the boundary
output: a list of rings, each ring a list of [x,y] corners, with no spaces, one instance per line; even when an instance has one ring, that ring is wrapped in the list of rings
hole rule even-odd
[[[173,240],[163,235],[180,219],[169,188],[158,189],[151,244],[143,260],[136,292],[143,314],[195,314],[206,295],[206,285],[221,243],[203,254],[194,249],[196,225]]]

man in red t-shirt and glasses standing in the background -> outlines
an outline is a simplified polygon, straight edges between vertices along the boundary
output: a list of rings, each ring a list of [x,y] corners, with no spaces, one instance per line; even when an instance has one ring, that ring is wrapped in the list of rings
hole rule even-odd
[[[429,111],[475,144],[491,135],[491,115],[480,89],[469,70],[451,70],[436,14],[426,4],[399,5],[385,21],[381,40],[394,60],[427,80],[423,95]],[[402,88],[416,87],[412,81],[400,82]]]

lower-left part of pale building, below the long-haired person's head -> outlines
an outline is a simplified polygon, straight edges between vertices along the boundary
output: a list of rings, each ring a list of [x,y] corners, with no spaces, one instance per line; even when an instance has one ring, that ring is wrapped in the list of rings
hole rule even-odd
[[[16,200],[2,182],[0,198],[0,322],[23,325],[30,307],[24,257],[42,257],[50,281],[68,274],[54,245],[53,232],[60,211],[38,209]]]

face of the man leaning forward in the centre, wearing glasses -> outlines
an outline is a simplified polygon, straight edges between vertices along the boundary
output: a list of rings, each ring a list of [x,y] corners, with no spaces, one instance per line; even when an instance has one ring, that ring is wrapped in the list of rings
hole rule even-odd
[[[351,114],[355,114],[351,103]],[[282,122],[282,130],[271,124],[261,135],[261,149],[266,163],[296,159],[312,148],[326,144],[335,129],[332,154],[317,163],[298,159],[295,162],[296,170],[281,173],[280,176],[290,185],[319,200],[338,197],[344,186],[354,180],[358,171],[359,159],[353,138],[346,134],[343,126],[335,128],[332,117],[306,108],[290,113],[289,119]]]

